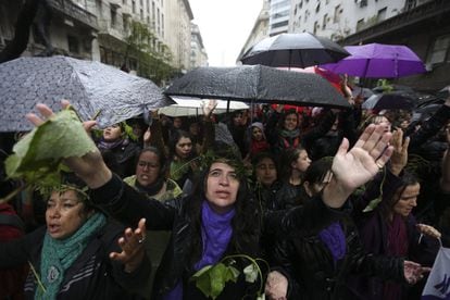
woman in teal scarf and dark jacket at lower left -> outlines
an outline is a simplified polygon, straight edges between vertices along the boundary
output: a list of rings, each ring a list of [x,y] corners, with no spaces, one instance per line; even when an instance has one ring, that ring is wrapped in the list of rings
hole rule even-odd
[[[139,299],[151,272],[145,220],[124,229],[92,207],[85,187],[65,175],[47,200],[47,226],[0,245],[0,267],[29,263],[26,299]]]

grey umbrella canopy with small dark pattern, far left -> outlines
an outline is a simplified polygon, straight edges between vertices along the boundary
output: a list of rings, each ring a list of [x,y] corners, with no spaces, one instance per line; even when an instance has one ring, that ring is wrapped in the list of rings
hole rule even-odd
[[[100,113],[100,127],[174,103],[148,79],[66,57],[20,58],[0,64],[0,132],[30,129],[24,115],[39,102],[59,110],[60,101],[67,99],[83,121]]]

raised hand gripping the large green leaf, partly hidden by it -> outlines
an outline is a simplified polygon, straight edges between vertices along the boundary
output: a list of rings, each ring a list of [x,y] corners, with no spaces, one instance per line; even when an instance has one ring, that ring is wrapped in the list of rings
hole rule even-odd
[[[66,109],[70,105],[70,102],[66,100],[61,101],[62,108]],[[34,113],[29,113],[26,115],[29,122],[32,122],[35,126],[39,126],[42,124],[47,118],[52,117],[53,111],[47,107],[46,104],[37,104],[36,109],[42,115],[42,118],[37,116]],[[88,132],[92,126],[96,125],[95,121],[87,121],[83,123],[85,129]],[[70,139],[72,137],[67,137]],[[90,138],[86,134],[86,138]],[[82,158],[67,158],[64,160],[64,163],[75,172],[90,188],[98,188],[111,178],[112,173],[104,164],[101,153],[98,149],[96,151],[89,152],[88,154]]]

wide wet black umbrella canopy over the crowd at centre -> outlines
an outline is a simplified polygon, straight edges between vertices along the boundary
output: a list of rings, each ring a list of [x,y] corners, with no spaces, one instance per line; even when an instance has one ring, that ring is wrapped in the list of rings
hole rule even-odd
[[[198,67],[175,79],[164,93],[255,103],[349,107],[318,75],[263,65]]]

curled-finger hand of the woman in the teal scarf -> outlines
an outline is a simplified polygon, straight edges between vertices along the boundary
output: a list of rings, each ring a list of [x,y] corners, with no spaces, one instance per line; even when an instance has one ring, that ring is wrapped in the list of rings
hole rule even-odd
[[[146,249],[143,241],[146,240],[146,220],[141,218],[135,230],[126,228],[124,236],[117,241],[122,252],[111,252],[110,259],[124,264],[125,272],[132,273],[143,260]]]

